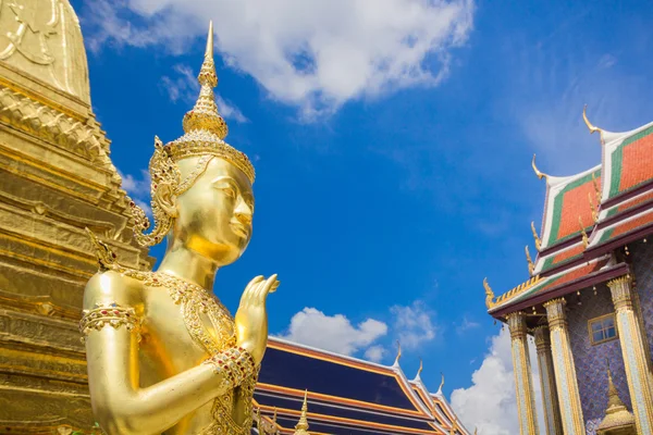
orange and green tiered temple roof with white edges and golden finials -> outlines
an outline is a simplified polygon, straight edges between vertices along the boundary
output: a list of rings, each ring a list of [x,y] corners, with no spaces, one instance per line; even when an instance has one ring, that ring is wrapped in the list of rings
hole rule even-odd
[[[601,133],[603,161],[557,177],[538,170],[533,158],[535,174],[546,181],[541,236],[532,227],[538,256],[532,263],[528,258],[530,277],[519,286],[496,299],[486,286],[493,315],[542,295],[577,290],[584,276],[608,276],[599,272],[617,264],[608,264],[606,254],[653,235],[653,123],[625,133],[594,127],[587,117],[586,123]]]

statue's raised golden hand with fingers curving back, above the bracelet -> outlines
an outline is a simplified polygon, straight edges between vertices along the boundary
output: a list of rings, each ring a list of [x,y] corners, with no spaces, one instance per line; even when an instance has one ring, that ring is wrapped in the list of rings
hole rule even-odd
[[[260,364],[268,346],[268,294],[279,286],[276,274],[264,279],[257,276],[247,284],[236,312],[236,340]]]

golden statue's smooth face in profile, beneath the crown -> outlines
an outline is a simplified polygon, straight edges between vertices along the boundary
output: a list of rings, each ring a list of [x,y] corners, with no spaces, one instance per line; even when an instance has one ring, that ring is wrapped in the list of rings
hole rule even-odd
[[[184,179],[198,158],[178,162]],[[176,199],[174,237],[218,265],[236,261],[251,238],[254,194],[247,176],[225,160],[213,158],[193,186]]]

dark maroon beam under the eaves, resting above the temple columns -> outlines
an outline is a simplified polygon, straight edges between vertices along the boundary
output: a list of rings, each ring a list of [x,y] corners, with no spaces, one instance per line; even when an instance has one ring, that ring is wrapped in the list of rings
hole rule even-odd
[[[500,310],[491,313],[493,318],[498,319],[503,318],[505,314],[509,314],[515,311],[523,310],[525,308],[529,308],[532,306],[537,306],[547,300],[559,298],[562,296],[568,295],[576,290],[580,290],[581,288],[589,287],[591,285],[595,285],[599,283],[603,283],[605,281],[614,279],[621,275],[625,275],[630,272],[630,268],[626,263],[619,263],[608,269],[604,269],[602,271],[596,271],[594,273],[590,273],[586,276],[582,276],[578,279],[570,281],[568,283],[564,283],[557,287],[553,287],[550,290],[533,296],[532,298],[520,300],[518,303],[513,306],[503,307]]]

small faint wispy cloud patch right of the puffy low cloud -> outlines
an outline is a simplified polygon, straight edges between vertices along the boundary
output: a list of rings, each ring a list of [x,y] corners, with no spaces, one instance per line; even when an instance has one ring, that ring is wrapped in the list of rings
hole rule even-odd
[[[433,313],[422,301],[417,300],[407,307],[394,306],[390,311],[394,315],[393,327],[402,348],[418,349],[435,338],[438,326],[432,319]]]

